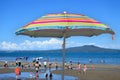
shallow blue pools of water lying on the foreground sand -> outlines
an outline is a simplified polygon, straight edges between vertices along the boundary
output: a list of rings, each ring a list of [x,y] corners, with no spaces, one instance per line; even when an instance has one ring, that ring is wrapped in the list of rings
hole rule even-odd
[[[55,70],[55,68],[52,68],[52,70]],[[49,72],[49,69],[47,69],[46,73],[49,75],[50,72]],[[31,76],[32,75],[32,76]],[[15,78],[15,73],[4,73],[4,74],[0,74],[0,80],[3,80],[1,78]],[[35,77],[35,74],[34,72],[31,73],[31,72],[22,72],[21,75],[20,75],[20,78],[22,80],[26,80],[26,78],[31,78],[31,77]],[[39,73],[39,78],[43,78],[44,80],[45,79],[45,73]],[[77,80],[77,77],[73,77],[73,76],[64,76],[65,80]],[[48,79],[49,80],[49,79]],[[61,75],[59,74],[54,74],[53,75],[53,78],[52,80],[61,80]]]

